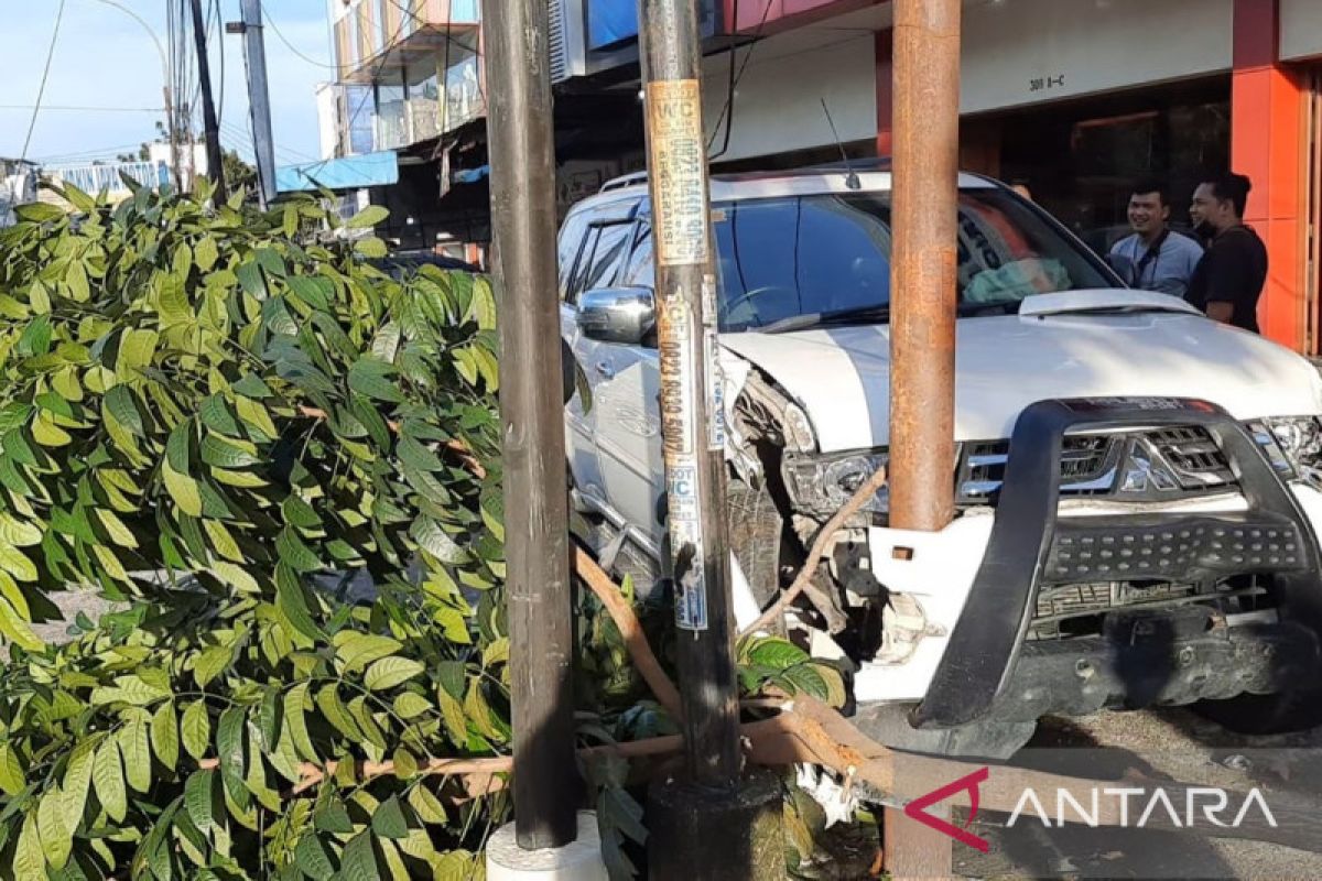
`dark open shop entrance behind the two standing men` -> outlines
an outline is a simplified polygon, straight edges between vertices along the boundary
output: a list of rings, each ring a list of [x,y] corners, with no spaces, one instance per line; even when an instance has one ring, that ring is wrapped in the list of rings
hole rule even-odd
[[[1171,221],[1188,225],[1204,170],[1227,168],[1228,75],[1144,86],[1109,95],[965,118],[960,161],[1009,184],[1099,252],[1128,232],[1134,184],[1154,177],[1171,197]]]

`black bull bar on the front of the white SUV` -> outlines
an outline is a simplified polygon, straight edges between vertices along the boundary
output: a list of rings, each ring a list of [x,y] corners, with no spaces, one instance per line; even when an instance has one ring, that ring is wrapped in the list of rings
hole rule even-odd
[[[1173,512],[1141,523],[1095,518],[1093,523],[1058,524],[1064,435],[1072,429],[1136,425],[1204,428],[1225,454],[1248,510],[1228,515]],[[951,728],[992,712],[1011,682],[1038,589],[1059,572],[1062,548],[1079,547],[1089,531],[1108,530],[1151,535],[1154,542],[1171,531],[1177,536],[1187,532],[1178,557],[1161,563],[1167,569],[1178,567],[1202,576],[1248,571],[1248,546],[1263,544],[1251,542],[1251,536],[1274,542],[1256,549],[1264,555],[1259,568],[1274,576],[1280,619],[1322,634],[1322,577],[1313,527],[1249,432],[1224,409],[1204,400],[1174,398],[1043,400],[1027,407],[1015,423],[986,555],[927,696],[914,711],[916,726]],[[1233,546],[1236,532],[1245,547]],[[1272,539],[1265,538],[1269,532]],[[1117,577],[1108,568],[1112,564],[1089,565],[1095,572],[1088,575],[1107,580],[1158,575],[1134,571]]]

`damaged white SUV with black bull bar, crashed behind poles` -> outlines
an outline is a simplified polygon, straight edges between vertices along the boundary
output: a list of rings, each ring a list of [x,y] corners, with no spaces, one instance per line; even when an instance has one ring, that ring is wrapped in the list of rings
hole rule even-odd
[[[744,625],[887,456],[890,186],[711,185]],[[1317,371],[1124,289],[993,181],[961,176],[958,213],[957,516],[892,530],[878,494],[832,536],[816,582],[834,608],[796,609],[788,633],[841,663],[865,729],[923,752],[1005,757],[1038,719],[1103,708],[1322,721]],[[645,182],[575,206],[559,248],[591,383],[566,411],[575,505],[645,588],[665,542]]]

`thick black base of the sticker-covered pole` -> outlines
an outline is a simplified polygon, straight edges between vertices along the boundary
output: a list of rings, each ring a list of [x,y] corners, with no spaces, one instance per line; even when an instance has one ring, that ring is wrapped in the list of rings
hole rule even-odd
[[[775,771],[758,769],[731,793],[680,781],[648,793],[648,870],[682,881],[783,881],[785,835]]]

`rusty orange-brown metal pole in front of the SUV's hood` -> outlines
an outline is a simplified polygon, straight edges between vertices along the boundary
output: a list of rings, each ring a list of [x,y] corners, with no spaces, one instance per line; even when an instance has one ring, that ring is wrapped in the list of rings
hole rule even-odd
[[[895,0],[891,258],[892,527],[954,516],[961,0]],[[886,811],[895,878],[948,877],[951,839]]]

